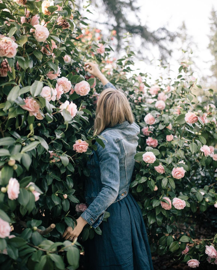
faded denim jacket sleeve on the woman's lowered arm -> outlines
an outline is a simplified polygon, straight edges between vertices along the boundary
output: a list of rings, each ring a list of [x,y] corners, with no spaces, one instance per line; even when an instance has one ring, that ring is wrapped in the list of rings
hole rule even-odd
[[[101,182],[103,187],[95,200],[81,214],[81,217],[83,217],[89,225],[92,225],[116,200],[119,192],[120,149],[113,137],[109,135],[104,135],[103,137],[107,140],[105,148],[103,149],[102,146],[97,143],[97,154],[99,157]]]

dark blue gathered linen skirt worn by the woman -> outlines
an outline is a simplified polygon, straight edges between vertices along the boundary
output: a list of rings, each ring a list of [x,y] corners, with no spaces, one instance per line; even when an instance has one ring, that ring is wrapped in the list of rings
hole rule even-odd
[[[82,243],[85,270],[153,270],[142,211],[133,195],[129,192],[106,211],[110,217],[99,225],[102,235]]]

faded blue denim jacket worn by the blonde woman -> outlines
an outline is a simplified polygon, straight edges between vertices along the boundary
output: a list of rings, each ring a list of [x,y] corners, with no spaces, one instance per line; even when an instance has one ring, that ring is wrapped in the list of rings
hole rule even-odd
[[[108,83],[104,88],[113,87]],[[97,142],[87,168],[90,175],[85,182],[85,200],[88,208],[81,214],[89,225],[96,228],[103,220],[105,210],[126,197],[134,169],[140,128],[128,121],[107,127],[101,132],[106,140],[103,149]]]

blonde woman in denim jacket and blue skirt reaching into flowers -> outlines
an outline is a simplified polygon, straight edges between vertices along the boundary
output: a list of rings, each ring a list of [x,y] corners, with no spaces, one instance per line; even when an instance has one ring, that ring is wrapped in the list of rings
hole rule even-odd
[[[94,128],[107,142],[104,149],[96,142],[97,150],[87,162],[88,208],[77,219],[75,229],[68,227],[63,237],[75,239],[87,223],[102,230],[102,235],[95,233],[93,239],[83,243],[85,270],[152,270],[142,212],[129,193],[140,128],[134,122],[125,93],[117,90],[97,65],[87,63],[86,69],[104,85],[97,102]],[[102,222],[105,210],[110,217]]]

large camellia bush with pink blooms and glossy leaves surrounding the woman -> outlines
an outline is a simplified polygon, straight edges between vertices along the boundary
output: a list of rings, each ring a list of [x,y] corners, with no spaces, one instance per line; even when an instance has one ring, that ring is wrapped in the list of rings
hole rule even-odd
[[[86,224],[78,240],[62,238],[87,208],[88,156],[95,142],[106,144],[93,134],[102,85],[85,71],[86,61],[126,92],[141,126],[131,192],[151,251],[190,267],[217,263],[215,233],[194,240],[188,224],[217,207],[213,91],[201,103],[192,95],[200,86],[190,63],[181,63],[176,78],[151,84],[148,73],[132,70],[130,35],[122,58],[113,58],[115,31],[105,42],[74,1],[3,0],[0,9],[1,269],[78,269],[82,241],[102,234]]]

